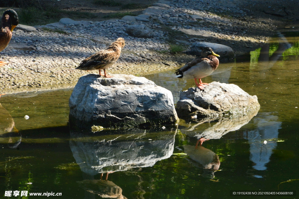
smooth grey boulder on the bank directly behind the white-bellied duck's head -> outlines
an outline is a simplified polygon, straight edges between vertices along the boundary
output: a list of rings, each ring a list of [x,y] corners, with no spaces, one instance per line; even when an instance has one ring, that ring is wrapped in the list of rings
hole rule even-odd
[[[205,47],[210,47],[216,54],[219,54],[220,62],[229,62],[234,60],[235,55],[231,47],[210,42],[194,42],[191,46],[190,54],[201,56],[202,48]]]

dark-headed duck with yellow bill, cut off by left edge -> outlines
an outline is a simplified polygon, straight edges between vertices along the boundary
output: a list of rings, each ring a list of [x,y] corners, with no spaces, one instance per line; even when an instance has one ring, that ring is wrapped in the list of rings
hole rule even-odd
[[[12,9],[5,10],[0,25],[0,51],[2,51],[9,43],[13,36],[13,29],[19,24],[19,18],[16,11]],[[6,64],[0,61],[0,66]]]

